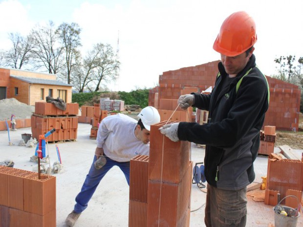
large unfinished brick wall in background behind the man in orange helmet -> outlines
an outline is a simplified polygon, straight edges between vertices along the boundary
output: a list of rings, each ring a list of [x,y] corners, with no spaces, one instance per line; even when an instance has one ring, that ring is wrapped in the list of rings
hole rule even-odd
[[[214,86],[218,62],[220,61],[163,72],[159,76],[157,103],[152,98],[155,96],[152,89],[149,105],[159,106],[161,99],[178,99],[184,87],[196,87],[197,92],[202,92]],[[301,90],[297,85],[268,76],[266,78],[270,87],[270,104],[264,125],[275,125],[277,130],[298,131]]]

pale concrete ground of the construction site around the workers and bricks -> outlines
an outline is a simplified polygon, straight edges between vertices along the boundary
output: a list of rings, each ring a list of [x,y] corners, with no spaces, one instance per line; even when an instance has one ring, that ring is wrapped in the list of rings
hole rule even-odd
[[[78,124],[78,136],[76,141],[61,143],[48,143],[46,154],[50,157],[50,164],[58,161],[56,144],[59,147],[63,169],[52,174],[56,176],[57,193],[57,227],[65,227],[65,218],[72,211],[75,204],[75,197],[80,191],[91,165],[96,140],[89,139],[90,124]],[[7,131],[0,131],[0,161],[12,160],[14,168],[37,171],[36,163],[30,162],[30,157],[35,154],[34,147],[19,146],[23,133],[31,133],[31,128],[17,129],[10,131],[10,142]],[[301,132],[302,133],[302,132]],[[298,141],[297,141],[298,142]],[[301,156],[301,149],[294,148],[294,151]],[[275,147],[275,152],[280,149]],[[205,149],[196,144],[191,146],[191,160],[194,165],[203,162]],[[267,174],[267,160],[265,155],[259,155],[255,161],[256,179],[248,188],[262,182],[261,177]],[[192,185],[191,194],[191,217],[190,227],[205,227],[204,208],[206,193]],[[248,214],[247,227],[268,227],[269,223],[274,224],[273,206],[265,205],[264,202],[255,202],[253,198],[262,198],[265,190],[256,189],[247,193]],[[81,214],[75,227],[128,227],[129,210],[129,186],[122,171],[113,167],[104,177],[87,209]],[[298,219],[297,227],[303,227],[303,217]]]

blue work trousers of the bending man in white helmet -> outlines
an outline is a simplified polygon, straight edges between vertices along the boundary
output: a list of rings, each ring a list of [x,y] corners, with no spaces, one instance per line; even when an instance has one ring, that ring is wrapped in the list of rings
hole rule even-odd
[[[130,185],[130,162],[116,162],[111,160],[107,156],[106,165],[104,165],[101,169],[96,169],[94,166],[94,162],[97,160],[97,157],[94,156],[94,160],[92,165],[90,166],[87,177],[83,183],[80,193],[76,197],[76,205],[74,207],[74,211],[76,213],[81,213],[83,210],[87,208],[87,204],[94,194],[97,186],[99,185],[102,178],[105,174],[111,169],[114,165],[119,166],[122,172],[125,175],[127,183]]]

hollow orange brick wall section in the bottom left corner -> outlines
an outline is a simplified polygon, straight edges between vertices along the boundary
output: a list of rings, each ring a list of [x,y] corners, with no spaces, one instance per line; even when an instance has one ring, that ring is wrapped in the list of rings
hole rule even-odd
[[[56,227],[56,177],[0,166],[0,226]]]

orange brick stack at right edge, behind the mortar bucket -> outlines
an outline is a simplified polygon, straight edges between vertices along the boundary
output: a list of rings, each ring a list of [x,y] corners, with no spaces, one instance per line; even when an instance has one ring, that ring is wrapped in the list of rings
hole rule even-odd
[[[276,206],[278,193],[280,193],[281,199],[287,195],[295,195],[301,202],[302,191],[303,160],[282,159],[279,155],[271,153],[268,156],[264,203]],[[298,206],[295,198],[286,198],[284,202],[286,206],[293,208]]]

